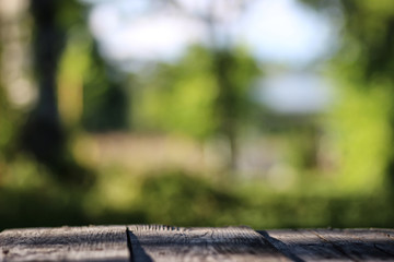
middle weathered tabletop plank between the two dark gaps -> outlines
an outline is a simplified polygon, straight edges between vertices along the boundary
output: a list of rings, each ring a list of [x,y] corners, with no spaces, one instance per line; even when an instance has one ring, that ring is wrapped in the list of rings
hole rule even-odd
[[[290,261],[248,227],[131,225],[132,261]]]

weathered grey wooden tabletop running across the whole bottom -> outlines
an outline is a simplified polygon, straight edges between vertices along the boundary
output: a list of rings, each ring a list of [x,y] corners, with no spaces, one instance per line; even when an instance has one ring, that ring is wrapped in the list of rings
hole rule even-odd
[[[394,261],[394,229],[159,225],[9,229],[0,261]]]

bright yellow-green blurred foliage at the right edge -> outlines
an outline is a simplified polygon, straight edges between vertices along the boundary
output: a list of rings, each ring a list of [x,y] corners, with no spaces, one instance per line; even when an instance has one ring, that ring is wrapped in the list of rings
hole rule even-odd
[[[338,187],[349,190],[373,191],[386,182],[392,94],[384,84],[374,85],[362,91],[344,82],[343,99],[331,118],[331,142],[341,159]]]

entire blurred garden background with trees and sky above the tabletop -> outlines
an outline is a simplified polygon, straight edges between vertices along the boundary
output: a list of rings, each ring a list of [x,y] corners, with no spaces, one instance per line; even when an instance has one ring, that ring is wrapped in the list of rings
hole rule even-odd
[[[0,0],[0,229],[394,226],[392,0]]]

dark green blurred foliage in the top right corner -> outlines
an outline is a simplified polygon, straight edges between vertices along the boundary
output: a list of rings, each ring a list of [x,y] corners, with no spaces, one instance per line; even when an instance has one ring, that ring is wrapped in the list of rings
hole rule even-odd
[[[387,76],[393,80],[393,2],[344,1],[344,7],[346,49],[358,49],[356,61],[362,76],[367,81]]]

